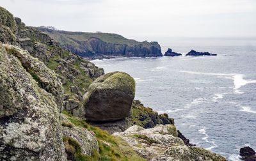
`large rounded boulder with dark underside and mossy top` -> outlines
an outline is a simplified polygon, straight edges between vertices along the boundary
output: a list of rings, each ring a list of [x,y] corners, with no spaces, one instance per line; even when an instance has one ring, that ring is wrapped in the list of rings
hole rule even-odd
[[[131,115],[135,81],[127,73],[111,72],[97,78],[84,95],[89,121],[115,121]]]

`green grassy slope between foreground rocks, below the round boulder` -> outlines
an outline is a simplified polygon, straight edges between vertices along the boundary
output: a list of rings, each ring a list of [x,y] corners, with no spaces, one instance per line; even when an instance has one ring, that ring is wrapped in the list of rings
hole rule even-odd
[[[76,118],[70,115],[67,111],[63,111],[63,114],[77,127],[83,127],[87,130],[93,131],[97,141],[99,142],[99,151],[93,151],[92,156],[86,156],[79,152],[79,146],[74,144],[70,148],[68,143],[68,150],[73,151],[75,160],[145,160],[139,157],[134,150],[132,150],[129,145],[119,137],[110,135],[107,131],[101,130],[98,127],[93,127],[86,123],[84,119]],[[67,144],[67,141],[66,141]],[[65,145],[66,145],[65,144]],[[71,144],[72,145],[72,144]],[[75,147],[75,148],[74,148]],[[76,150],[77,149],[77,150]],[[80,147],[81,149],[81,147]]]

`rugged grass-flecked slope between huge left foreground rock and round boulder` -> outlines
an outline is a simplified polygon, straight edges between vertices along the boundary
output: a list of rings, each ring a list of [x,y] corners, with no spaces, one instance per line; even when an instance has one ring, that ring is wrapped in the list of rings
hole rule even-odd
[[[14,18],[13,18],[14,20]],[[65,97],[63,97],[63,107],[67,111],[72,112],[73,109],[82,107],[83,94],[86,93],[88,86],[94,79],[104,74],[102,68],[98,68],[93,63],[86,61],[82,57],[76,56],[60,47],[50,36],[42,31],[38,31],[35,27],[26,26],[19,18],[15,18],[14,23],[17,28],[13,35],[16,37],[15,45],[22,49],[28,50],[29,54],[37,57],[44,62],[48,68],[57,73],[57,77],[61,79],[64,87]],[[3,41],[2,41],[3,42]],[[20,58],[24,59],[24,57]],[[22,61],[23,62],[23,61]],[[35,65],[29,65],[26,60],[30,72],[36,72],[39,69]],[[29,66],[34,66],[31,70]],[[41,72],[41,74],[44,72]],[[38,75],[41,77],[40,75]],[[39,78],[40,86],[45,86],[46,90],[52,90],[51,86],[56,84],[51,79]],[[52,85],[51,85],[52,84]],[[61,85],[61,86],[62,86]],[[54,94],[54,91],[52,91]],[[57,93],[54,94],[56,96]],[[56,97],[58,98],[58,97]],[[61,102],[62,98],[58,98]]]

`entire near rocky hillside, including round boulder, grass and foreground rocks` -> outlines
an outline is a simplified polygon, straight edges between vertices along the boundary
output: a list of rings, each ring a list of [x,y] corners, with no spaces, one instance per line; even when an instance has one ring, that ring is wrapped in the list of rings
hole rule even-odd
[[[133,101],[127,73],[104,74],[1,7],[0,19],[0,160],[225,160]]]

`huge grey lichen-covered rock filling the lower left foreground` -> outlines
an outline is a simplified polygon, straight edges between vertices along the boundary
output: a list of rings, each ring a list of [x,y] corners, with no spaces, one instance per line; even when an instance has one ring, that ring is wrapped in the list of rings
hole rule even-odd
[[[10,47],[0,43],[0,160],[66,160],[60,107],[19,57],[6,51]]]

